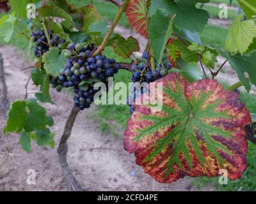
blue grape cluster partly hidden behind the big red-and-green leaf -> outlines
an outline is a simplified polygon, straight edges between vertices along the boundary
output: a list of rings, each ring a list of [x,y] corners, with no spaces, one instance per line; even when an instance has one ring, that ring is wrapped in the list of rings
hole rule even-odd
[[[143,54],[144,61],[140,62],[140,64],[134,63],[131,66],[131,80],[134,82],[134,84],[131,87],[131,95],[127,99],[127,104],[131,107],[131,114],[134,112],[134,106],[132,103],[134,102],[135,98],[143,94],[143,92],[148,91],[146,87],[141,87],[141,84],[143,82],[154,82],[159,78],[163,78],[168,74],[168,70],[172,69],[172,64],[170,61],[167,58],[164,58],[159,67],[157,66],[157,63],[155,64],[155,69],[152,71],[150,64],[148,63],[148,57],[148,52],[145,52]],[[138,87],[140,88],[138,89]]]

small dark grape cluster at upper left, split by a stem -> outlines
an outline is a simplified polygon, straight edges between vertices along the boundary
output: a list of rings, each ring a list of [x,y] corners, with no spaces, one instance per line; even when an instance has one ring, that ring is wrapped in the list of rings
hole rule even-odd
[[[45,52],[49,50],[49,45],[47,43],[47,38],[45,36],[44,30],[35,31],[31,33],[31,40],[35,43],[34,54],[36,57],[41,57]],[[58,34],[54,35],[52,31],[49,32],[50,43],[53,47],[58,47],[61,49],[65,39],[61,39]]]

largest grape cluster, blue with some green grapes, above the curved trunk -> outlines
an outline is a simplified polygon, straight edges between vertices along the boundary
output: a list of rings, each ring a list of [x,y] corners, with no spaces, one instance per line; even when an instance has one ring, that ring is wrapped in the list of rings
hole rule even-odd
[[[100,54],[91,57],[93,45],[70,43],[67,49],[66,66],[59,77],[51,79],[51,84],[57,91],[61,91],[63,87],[73,87],[75,104],[83,110],[90,107],[97,91],[93,90],[92,85],[85,90],[79,84],[90,80],[92,83],[104,82],[107,85],[108,77],[113,77],[118,72],[120,64],[116,63],[115,59],[108,59]]]

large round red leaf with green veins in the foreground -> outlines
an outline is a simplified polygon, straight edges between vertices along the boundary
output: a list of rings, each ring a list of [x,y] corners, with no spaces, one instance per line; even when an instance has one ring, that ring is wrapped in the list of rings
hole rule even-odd
[[[228,171],[229,179],[239,179],[246,170],[245,126],[252,120],[239,94],[225,91],[215,80],[189,83],[177,73],[159,82],[163,108],[153,112],[151,105],[139,105],[154,94],[136,99],[125,150],[134,153],[136,163],[158,182],[185,175],[214,177],[221,169]]]

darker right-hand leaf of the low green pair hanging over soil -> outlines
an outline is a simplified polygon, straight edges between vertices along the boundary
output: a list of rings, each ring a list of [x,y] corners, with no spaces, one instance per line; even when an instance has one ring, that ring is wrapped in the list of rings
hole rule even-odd
[[[32,132],[36,129],[44,130],[47,124],[45,108],[35,101],[27,101],[27,106],[29,112],[24,129],[27,132]]]

